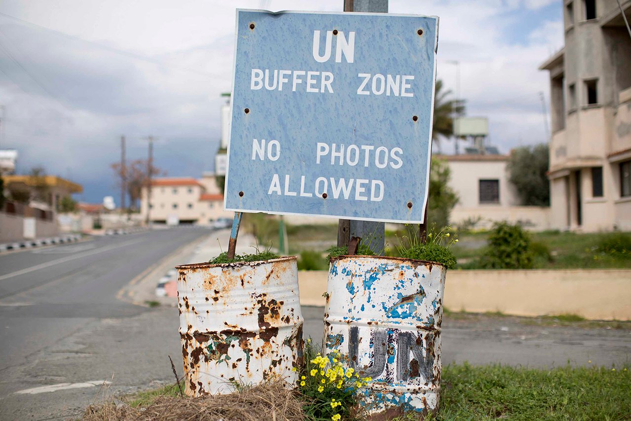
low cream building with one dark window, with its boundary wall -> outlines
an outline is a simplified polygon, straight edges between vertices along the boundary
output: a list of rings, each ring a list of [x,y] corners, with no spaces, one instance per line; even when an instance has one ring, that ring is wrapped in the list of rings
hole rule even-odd
[[[515,187],[509,182],[508,155],[435,155],[446,160],[451,170],[449,186],[459,201],[449,217],[452,225],[476,222],[475,228],[489,228],[493,222],[521,223],[531,230],[550,227],[550,208],[521,206]]]

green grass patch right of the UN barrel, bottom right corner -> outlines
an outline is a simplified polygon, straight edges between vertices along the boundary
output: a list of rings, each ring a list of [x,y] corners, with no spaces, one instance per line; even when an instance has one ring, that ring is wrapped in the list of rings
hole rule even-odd
[[[628,420],[627,367],[447,365],[435,420]]]

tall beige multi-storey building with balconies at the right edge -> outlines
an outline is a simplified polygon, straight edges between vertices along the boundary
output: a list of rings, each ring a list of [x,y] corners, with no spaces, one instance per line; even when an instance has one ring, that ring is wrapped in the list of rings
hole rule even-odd
[[[621,1],[631,21],[631,1]],[[631,38],[616,0],[563,0],[550,72],[553,228],[631,230]]]

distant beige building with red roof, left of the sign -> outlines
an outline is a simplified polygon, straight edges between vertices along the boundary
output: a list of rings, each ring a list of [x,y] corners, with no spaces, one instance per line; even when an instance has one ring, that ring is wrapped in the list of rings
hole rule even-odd
[[[143,187],[140,212],[147,213],[151,222],[194,223],[209,225],[218,218],[232,218],[233,213],[223,210],[223,194],[216,186],[215,176],[204,174],[201,179],[192,177],[158,177],[151,182],[151,205],[148,206],[147,189]]]

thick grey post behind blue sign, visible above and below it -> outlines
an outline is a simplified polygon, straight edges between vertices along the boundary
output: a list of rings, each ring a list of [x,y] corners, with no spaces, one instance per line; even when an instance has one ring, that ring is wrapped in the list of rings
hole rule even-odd
[[[388,0],[344,0],[345,12],[388,13]],[[348,246],[351,237],[361,237],[364,244],[370,242],[370,249],[381,254],[385,247],[383,222],[351,221],[341,219],[338,222],[338,247]]]

